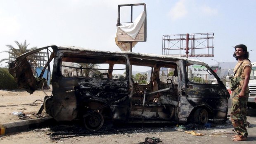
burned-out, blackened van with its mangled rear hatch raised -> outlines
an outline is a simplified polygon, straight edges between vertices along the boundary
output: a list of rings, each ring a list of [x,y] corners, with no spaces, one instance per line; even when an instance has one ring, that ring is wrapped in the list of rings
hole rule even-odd
[[[230,95],[203,62],[135,52],[43,47],[21,55],[9,68],[18,85],[29,93],[38,89],[43,74],[35,78],[26,57],[40,50],[49,54],[42,73],[52,69],[52,95],[43,106],[57,121],[81,119],[88,130],[99,130],[105,120],[205,124],[209,119],[227,118]]]

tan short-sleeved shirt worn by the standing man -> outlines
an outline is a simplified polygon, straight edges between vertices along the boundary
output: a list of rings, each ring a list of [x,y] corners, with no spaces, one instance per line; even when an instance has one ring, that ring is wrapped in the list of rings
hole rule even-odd
[[[239,68],[240,64],[243,62],[243,64],[241,65],[241,68]],[[238,61],[237,65],[234,68],[234,72],[237,71],[237,73],[235,74],[235,77],[238,77],[239,73],[240,73],[240,78],[242,78],[242,80],[240,81],[239,84],[239,89],[242,89],[243,85],[244,85],[244,68],[245,66],[250,66],[251,67],[251,62],[247,59],[244,59],[242,61]],[[242,71],[241,71],[242,70]],[[241,71],[241,72],[240,72]],[[247,90],[249,90],[249,87],[246,88]]]

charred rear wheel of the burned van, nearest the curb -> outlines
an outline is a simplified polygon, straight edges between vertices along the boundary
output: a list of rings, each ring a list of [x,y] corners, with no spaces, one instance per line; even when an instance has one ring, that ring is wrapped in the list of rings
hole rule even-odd
[[[101,113],[94,112],[89,116],[86,116],[83,121],[86,129],[90,131],[97,131],[102,127],[104,118]]]

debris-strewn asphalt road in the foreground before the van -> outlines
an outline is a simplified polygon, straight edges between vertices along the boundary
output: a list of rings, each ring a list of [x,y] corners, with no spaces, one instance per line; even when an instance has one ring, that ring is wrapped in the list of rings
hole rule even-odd
[[[229,111],[231,107],[231,100],[229,103]],[[158,137],[161,139],[159,144],[256,144],[256,109],[247,109],[247,121],[249,121],[250,127],[247,128],[249,136],[244,142],[232,141],[232,124],[220,124],[215,125],[211,128],[198,129],[196,132],[204,134],[204,136],[194,136],[185,132],[177,132],[174,130],[174,125],[166,126],[154,126],[150,127],[125,127],[124,125],[119,126],[116,131],[121,131],[124,127],[125,132],[112,135],[90,135],[81,137],[70,137],[59,140],[52,140],[49,137],[50,133],[53,132],[68,132],[75,129],[75,132],[80,132],[80,128],[74,125],[56,125],[53,127],[44,127],[28,132],[20,132],[14,135],[7,135],[0,137],[1,144],[17,144],[17,143],[58,143],[62,144],[138,144],[143,142],[145,137]],[[187,125],[186,125],[187,126]]]

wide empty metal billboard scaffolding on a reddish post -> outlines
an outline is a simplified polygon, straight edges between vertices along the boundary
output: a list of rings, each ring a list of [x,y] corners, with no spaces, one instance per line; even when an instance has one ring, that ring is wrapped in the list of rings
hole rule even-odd
[[[214,57],[214,33],[163,35],[162,55]]]

